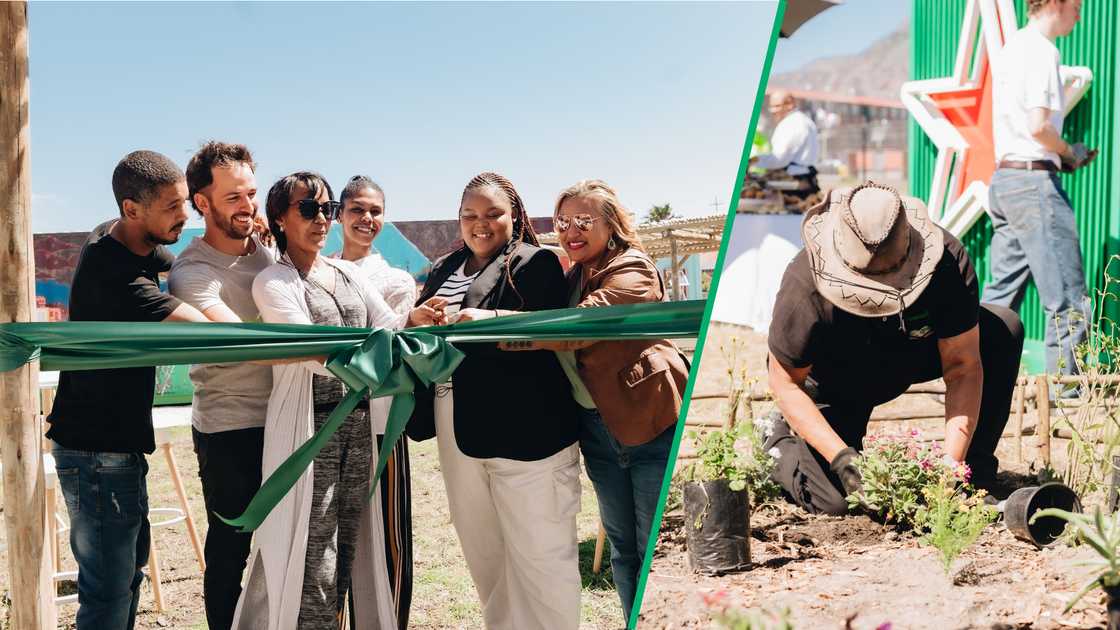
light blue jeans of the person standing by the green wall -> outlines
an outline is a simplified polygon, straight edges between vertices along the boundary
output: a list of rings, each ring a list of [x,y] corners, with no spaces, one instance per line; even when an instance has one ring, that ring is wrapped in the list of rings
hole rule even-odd
[[[1070,197],[1057,175],[1000,168],[991,177],[991,281],[983,302],[1018,311],[1035,279],[1046,312],[1046,371],[1077,371],[1075,349],[1088,336],[1091,304]]]

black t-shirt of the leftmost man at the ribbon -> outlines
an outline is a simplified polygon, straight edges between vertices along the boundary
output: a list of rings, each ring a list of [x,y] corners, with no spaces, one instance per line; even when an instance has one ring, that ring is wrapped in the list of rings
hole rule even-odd
[[[160,322],[180,304],[159,290],[159,274],[175,257],[165,247],[137,256],[109,235],[114,221],[94,228],[82,247],[71,285],[72,322]],[[156,368],[63,371],[47,420],[47,437],[64,448],[152,453],[151,405]]]

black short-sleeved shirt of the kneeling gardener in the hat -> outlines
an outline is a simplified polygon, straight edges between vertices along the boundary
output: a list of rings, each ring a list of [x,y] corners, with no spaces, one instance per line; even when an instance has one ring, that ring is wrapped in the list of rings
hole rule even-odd
[[[821,401],[880,405],[905,391],[931,362],[937,340],[977,325],[979,291],[972,261],[945,232],[945,252],[930,285],[903,317],[859,317],[821,297],[802,250],[785,270],[774,304],[769,350],[788,368],[812,365]]]

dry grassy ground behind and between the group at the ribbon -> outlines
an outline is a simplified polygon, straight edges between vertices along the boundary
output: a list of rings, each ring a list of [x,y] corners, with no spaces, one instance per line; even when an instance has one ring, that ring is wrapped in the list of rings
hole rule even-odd
[[[180,408],[188,409],[188,408]],[[189,411],[187,411],[189,414]],[[189,417],[189,415],[188,415]],[[172,452],[190,500],[192,513],[200,532],[205,535],[206,520],[198,481],[198,462],[195,457],[189,427],[171,429]],[[414,583],[410,628],[482,628],[478,596],[467,573],[459,549],[459,541],[447,511],[447,498],[439,471],[436,442],[410,444],[412,463],[412,517],[414,536]],[[148,493],[151,507],[177,506],[175,489],[168,466],[160,452],[149,457]],[[586,474],[582,475],[582,508],[579,515],[580,574],[584,580],[581,597],[582,629],[616,630],[623,627],[622,605],[610,577],[609,545],[604,552],[604,571],[591,573],[595,537],[598,531],[598,506]],[[65,513],[65,506],[58,501]],[[183,524],[155,530],[157,553],[162,572],[162,592],[166,608],[156,611],[151,583],[141,587],[137,628],[174,628],[202,630],[206,618],[203,611],[202,573]],[[67,540],[60,544],[63,567],[74,568]],[[8,562],[7,540],[0,529],[0,629],[8,623]],[[63,583],[62,594],[75,592],[73,582]],[[73,628],[76,604],[59,606],[58,628]]]

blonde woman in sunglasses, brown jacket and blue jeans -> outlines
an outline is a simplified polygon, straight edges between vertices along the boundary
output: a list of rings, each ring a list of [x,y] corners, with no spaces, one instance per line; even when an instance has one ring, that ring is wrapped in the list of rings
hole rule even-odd
[[[665,299],[657,267],[629,212],[606,183],[560,193],[553,221],[572,261],[568,306]],[[579,447],[610,539],[610,567],[627,620],[673,445],[689,365],[668,340],[510,342],[503,350],[556,350],[580,407]]]

